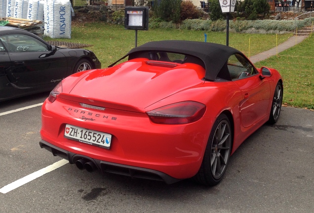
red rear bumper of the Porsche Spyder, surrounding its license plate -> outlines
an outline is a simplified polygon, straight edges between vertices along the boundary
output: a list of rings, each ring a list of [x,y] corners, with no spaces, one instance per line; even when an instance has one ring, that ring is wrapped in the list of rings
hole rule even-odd
[[[122,168],[123,175],[126,175],[125,171],[131,171],[127,175],[132,177],[134,171],[155,174],[157,179],[161,177],[168,183],[173,182],[168,179],[192,178],[197,174],[208,140],[208,129],[213,123],[213,118],[204,117],[185,125],[160,125],[152,123],[145,113],[113,108],[103,112],[83,108],[77,102],[62,98],[53,103],[46,101],[41,112],[41,140],[47,142],[47,147],[54,148],[51,152],[55,155],[65,156],[70,163],[76,163],[76,158],[73,160],[75,154],[85,159],[97,159],[103,164],[110,162],[106,168],[101,167],[100,162],[95,164],[100,170],[107,170],[109,164],[116,165],[115,169],[119,170],[112,173],[120,174]],[[90,120],[82,119],[85,117]],[[66,124],[110,134],[110,148],[66,138]],[[68,156],[69,153],[73,154]]]

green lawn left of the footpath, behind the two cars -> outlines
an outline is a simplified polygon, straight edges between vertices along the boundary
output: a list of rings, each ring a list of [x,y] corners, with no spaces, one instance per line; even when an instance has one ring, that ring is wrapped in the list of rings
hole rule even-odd
[[[207,42],[226,44],[226,33],[206,32],[206,34]],[[289,36],[291,34],[279,35],[278,43],[282,43]],[[107,67],[135,46],[135,31],[125,30],[123,26],[109,25],[104,22],[82,23],[81,25],[72,25],[71,39],[52,39],[49,37],[45,37],[45,39],[91,44],[93,46],[87,49],[95,52],[102,63],[102,67]],[[137,45],[148,41],[167,39],[204,41],[204,32],[165,29],[138,31]],[[248,56],[249,40],[251,56],[271,49],[276,45],[276,35],[257,34],[230,34],[229,45]]]

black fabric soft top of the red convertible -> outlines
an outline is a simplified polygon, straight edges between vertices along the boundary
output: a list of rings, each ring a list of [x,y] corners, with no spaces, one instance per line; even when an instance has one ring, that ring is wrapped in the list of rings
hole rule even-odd
[[[165,51],[195,56],[205,65],[205,78],[212,81],[215,80],[217,74],[226,64],[231,55],[235,53],[243,55],[235,48],[217,43],[186,40],[163,40],[151,41],[135,47],[121,59],[124,59],[127,56],[129,56],[129,59],[136,58],[136,55],[141,55],[140,53],[147,51]],[[117,62],[109,67],[114,66]]]

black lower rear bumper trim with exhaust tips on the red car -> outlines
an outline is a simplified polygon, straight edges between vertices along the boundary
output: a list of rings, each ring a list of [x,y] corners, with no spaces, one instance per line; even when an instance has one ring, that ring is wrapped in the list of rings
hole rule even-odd
[[[91,161],[97,166],[97,169],[100,170],[102,173],[113,173],[113,174],[118,174],[118,175],[129,176],[131,178],[144,178],[144,179],[151,179],[151,180],[159,180],[159,181],[164,181],[167,184],[175,183],[181,180],[181,179],[173,178],[169,175],[166,175],[156,170],[93,159],[84,155],[80,155],[80,154],[76,154],[76,153],[64,150],[60,147],[57,147],[43,140],[39,142],[39,145],[41,148],[45,148],[48,151],[50,151],[54,156],[59,156],[68,160],[70,164],[75,164],[75,162],[80,159],[86,159],[88,161]]]

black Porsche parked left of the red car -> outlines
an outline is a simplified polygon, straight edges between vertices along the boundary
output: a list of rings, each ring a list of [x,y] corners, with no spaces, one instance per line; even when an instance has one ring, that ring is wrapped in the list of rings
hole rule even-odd
[[[0,101],[52,90],[75,72],[98,68],[92,51],[53,46],[28,31],[0,27]]]

